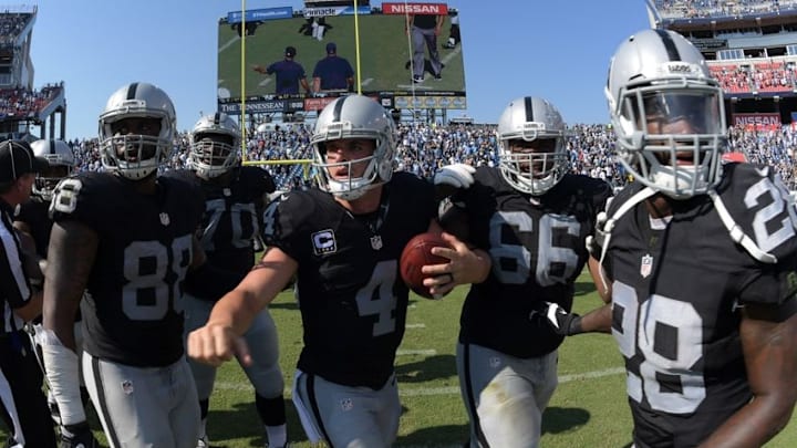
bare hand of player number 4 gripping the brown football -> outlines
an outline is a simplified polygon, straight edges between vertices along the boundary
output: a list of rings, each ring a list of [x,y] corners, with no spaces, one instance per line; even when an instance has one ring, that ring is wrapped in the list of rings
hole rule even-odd
[[[447,258],[444,264],[427,264],[423,273],[433,275],[424,280],[424,285],[435,295],[449,293],[457,284],[480,283],[489,274],[491,263],[484,251],[472,250],[455,236],[443,232],[443,239],[453,249],[434,248],[432,253]]]

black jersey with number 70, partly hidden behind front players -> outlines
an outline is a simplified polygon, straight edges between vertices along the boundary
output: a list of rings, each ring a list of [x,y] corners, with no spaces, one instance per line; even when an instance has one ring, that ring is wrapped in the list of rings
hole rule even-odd
[[[208,262],[246,274],[255,258],[252,239],[260,231],[263,196],[275,190],[268,171],[253,166],[237,167],[229,185],[203,181],[189,170],[167,175],[187,176],[204,192],[205,213],[197,237]]]

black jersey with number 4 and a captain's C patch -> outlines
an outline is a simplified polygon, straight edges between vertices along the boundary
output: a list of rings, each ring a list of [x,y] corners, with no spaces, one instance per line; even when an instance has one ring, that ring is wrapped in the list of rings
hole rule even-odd
[[[353,216],[327,192],[283,195],[267,208],[263,241],[299,263],[304,347],[299,368],[349,386],[380,388],[404,335],[408,289],[398,259],[437,209],[429,183],[395,173],[380,210]]]

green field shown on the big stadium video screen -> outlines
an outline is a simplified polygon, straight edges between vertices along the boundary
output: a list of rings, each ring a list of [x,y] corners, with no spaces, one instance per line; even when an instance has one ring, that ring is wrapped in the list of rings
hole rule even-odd
[[[275,92],[273,75],[263,75],[252,70],[252,65],[268,66],[283,59],[286,46],[297,49],[296,62],[304,67],[308,81],[312,81],[315,62],[325,56],[328,42],[335,42],[338,54],[349,60],[356,76],[356,45],[354,17],[339,15],[328,18],[333,28],[322,41],[298,32],[304,19],[283,19],[267,21],[258,27],[255,35],[246,39],[246,93],[248,96],[270,95]],[[412,73],[405,67],[411,58],[408,40],[404,33],[403,15],[361,15],[360,34],[360,79],[362,92],[407,92],[413,85]],[[439,56],[445,69],[443,80],[427,77],[423,84],[415,85],[417,91],[465,91],[462,46],[455,50],[439,48],[448,37],[448,19],[438,38]],[[227,24],[219,25],[218,42],[218,87],[226,90],[234,98],[240,97],[241,42],[238,34]],[[428,55],[427,55],[428,58]],[[428,75],[427,75],[428,76]],[[356,82],[356,80],[355,80]]]

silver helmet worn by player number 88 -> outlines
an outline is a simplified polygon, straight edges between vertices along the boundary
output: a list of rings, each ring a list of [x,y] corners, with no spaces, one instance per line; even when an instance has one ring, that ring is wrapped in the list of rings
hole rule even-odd
[[[154,135],[114,132],[123,121],[154,118]],[[100,115],[100,152],[105,169],[137,180],[157,171],[166,162],[176,135],[174,104],[166,92],[147,83],[131,83],[114,92]]]

